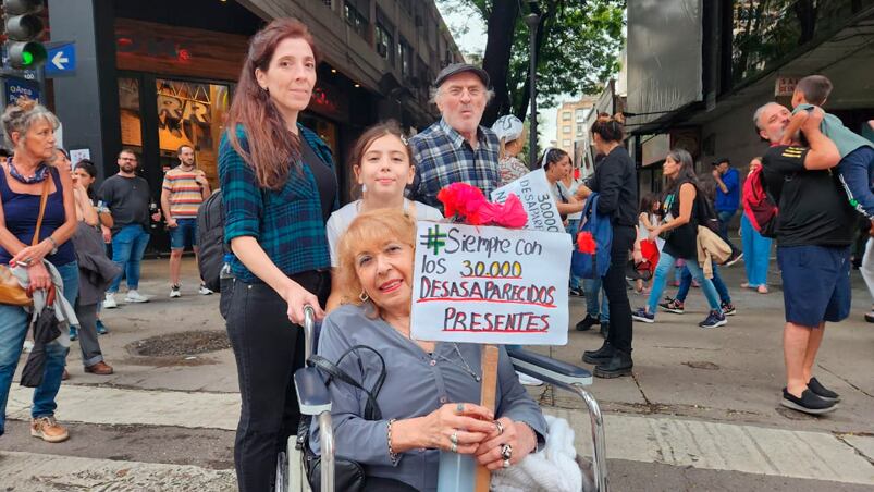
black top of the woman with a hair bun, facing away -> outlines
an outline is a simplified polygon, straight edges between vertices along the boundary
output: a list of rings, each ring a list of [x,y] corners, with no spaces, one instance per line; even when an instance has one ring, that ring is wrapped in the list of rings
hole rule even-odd
[[[592,192],[601,194],[598,213],[611,223],[633,227],[638,224],[638,179],[635,161],[625,147],[616,147],[595,167]]]

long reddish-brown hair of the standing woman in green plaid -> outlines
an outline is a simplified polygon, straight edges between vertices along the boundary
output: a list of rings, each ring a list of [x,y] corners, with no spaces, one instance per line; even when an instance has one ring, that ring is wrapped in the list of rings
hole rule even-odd
[[[296,19],[273,20],[249,41],[226,123],[231,146],[255,171],[258,185],[273,190],[285,185],[288,172],[299,161],[300,138],[288,132],[270,94],[258,85],[255,70],[267,72],[276,47],[288,38],[307,41],[318,65],[319,53],[309,28]],[[246,131],[246,148],[237,137],[237,125]]]

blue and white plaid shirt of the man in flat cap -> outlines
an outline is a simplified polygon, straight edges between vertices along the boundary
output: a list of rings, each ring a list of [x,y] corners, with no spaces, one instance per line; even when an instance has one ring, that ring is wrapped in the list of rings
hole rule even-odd
[[[411,199],[441,210],[438,193],[453,183],[468,183],[489,198],[501,184],[497,165],[500,143],[489,128],[479,127],[477,150],[442,118],[409,139],[416,159],[416,181]]]

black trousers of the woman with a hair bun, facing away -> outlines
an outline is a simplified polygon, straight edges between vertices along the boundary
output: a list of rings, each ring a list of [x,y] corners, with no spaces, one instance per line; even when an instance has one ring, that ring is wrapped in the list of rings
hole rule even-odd
[[[631,304],[628,302],[628,288],[625,283],[625,269],[628,253],[635,246],[635,227],[613,226],[613,246],[611,247],[610,269],[604,275],[604,292],[610,304],[610,334],[607,342],[626,354],[631,354]]]

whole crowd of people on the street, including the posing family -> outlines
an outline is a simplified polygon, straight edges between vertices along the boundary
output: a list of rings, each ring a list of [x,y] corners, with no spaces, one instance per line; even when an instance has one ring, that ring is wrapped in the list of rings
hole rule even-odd
[[[360,135],[348,162],[355,199],[341,207],[331,150],[299,122],[318,63],[313,39],[299,21],[275,20],[258,32],[220,144],[224,241],[231,251],[230,282],[221,296],[230,307],[223,313],[241,391],[234,445],[239,490],[270,490],[278,453],[298,433],[293,374],[305,362],[304,335],[293,328],[304,322],[306,307],[322,320],[319,354],[358,383],[335,380],[329,390],[337,448],[365,466],[368,483],[380,490],[433,489],[441,450],[470,455],[491,470],[516,466],[543,447],[549,429],[506,350],[500,352],[492,411],[477,403],[478,346],[413,340],[410,302],[416,220],[443,220],[438,194],[450,184],[468,183],[488,195],[528,173],[519,159],[525,125],[507,115],[491,128],[482,126],[493,96],[489,75],[470,64],[447,65],[433,84],[435,123],[409,138],[394,122]],[[849,315],[853,207],[874,211],[869,188],[874,146],[818,109],[830,90],[821,78],[799,84],[795,115],[771,102],[753,118],[772,146],[750,162],[747,180],[762,177],[778,207],[773,234],[748,213],[747,188],[728,159],[699,176],[693,157],[673,149],[664,160],[663,190],[639,199],[619,115],[601,115],[591,127],[599,158],[588,180],[575,175],[570,156],[557,148],[546,148],[532,163],[542,168],[571,236],[587,220],[582,212],[592,194],[599,200],[590,213],[611,223],[606,274],[570,275],[567,286],[587,298],[588,312],[576,329],[600,324],[604,335],[600,348],[582,355],[596,377],[630,374],[633,321],[652,323],[660,308],[682,313],[691,286],[700,287],[709,305],[699,325],[725,325],[736,307],[721,265],[743,259],[741,287],[767,294],[775,236],[786,307],[783,404],[811,414],[836,407],[839,396],[816,380],[813,367],[825,323]],[[125,302],[149,300],[139,293],[141,260],[150,222],[162,218],[171,238],[170,297],[182,295],[182,254],[188,247],[198,254],[197,211],[212,189],[195,165],[194,149],[183,146],[179,167],[164,176],[160,208],[130,149],[118,155],[118,174],[95,192],[95,164],[72,165],[57,148],[59,122],[48,110],[22,101],[7,109],[2,124],[13,149],[0,173],[0,263],[23,269],[30,290],[57,286],[77,318],[69,337],[46,345],[45,373],[32,406],[32,434],[60,442],[69,433],[53,417],[54,398],[69,341],[79,340],[86,371],[112,373],[99,344],[98,334],[106,331],[100,310],[118,307],[123,279]],[[738,211],[742,249],[729,237]],[[710,219],[717,230],[705,226]],[[872,244],[862,265],[874,292]],[[663,299],[680,262],[679,291]],[[643,307],[632,310],[632,291],[647,296]],[[198,292],[212,293],[202,280]],[[0,434],[28,320],[26,309],[0,304]],[[374,388],[377,394],[359,388]],[[318,422],[309,432],[318,450]]]

